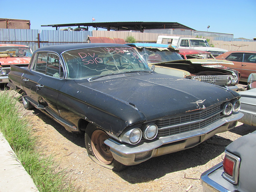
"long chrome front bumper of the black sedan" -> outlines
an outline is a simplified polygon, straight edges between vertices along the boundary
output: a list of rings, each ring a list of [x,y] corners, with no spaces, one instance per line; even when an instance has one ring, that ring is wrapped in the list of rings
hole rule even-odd
[[[242,116],[242,113],[234,113],[202,129],[146,140],[136,145],[120,143],[112,138],[105,140],[104,143],[110,147],[115,160],[124,165],[135,165],[152,157],[194,147],[216,133],[228,131],[229,123],[239,120]]]

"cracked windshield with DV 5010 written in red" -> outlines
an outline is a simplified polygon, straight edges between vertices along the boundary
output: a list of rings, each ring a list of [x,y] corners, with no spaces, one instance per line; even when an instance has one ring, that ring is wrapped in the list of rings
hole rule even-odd
[[[71,79],[151,71],[138,53],[129,47],[84,48],[64,52],[62,56]]]

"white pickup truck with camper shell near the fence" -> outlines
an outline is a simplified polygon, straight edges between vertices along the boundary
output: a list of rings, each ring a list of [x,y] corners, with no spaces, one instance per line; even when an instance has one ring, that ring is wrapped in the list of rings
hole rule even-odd
[[[164,36],[160,35],[157,38],[158,44],[171,44],[174,48],[196,49],[210,52],[213,56],[218,56],[228,50],[210,47],[206,39],[189,38],[180,36]]]

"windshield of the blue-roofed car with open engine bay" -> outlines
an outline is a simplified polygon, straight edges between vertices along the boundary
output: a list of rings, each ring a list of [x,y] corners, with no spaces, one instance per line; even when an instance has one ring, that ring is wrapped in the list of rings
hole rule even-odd
[[[159,63],[182,59],[180,54],[169,49],[137,48],[137,50],[147,63]]]

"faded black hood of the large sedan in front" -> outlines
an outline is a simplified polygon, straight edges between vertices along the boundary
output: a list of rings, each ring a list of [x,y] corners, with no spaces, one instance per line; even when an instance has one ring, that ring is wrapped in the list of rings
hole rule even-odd
[[[116,103],[121,101],[126,103],[127,108],[136,108],[147,121],[205,109],[234,98],[234,94],[240,96],[219,86],[155,72],[107,76],[91,82],[76,82],[87,87],[88,92],[93,90],[97,98],[102,98],[95,104],[97,108],[114,108],[112,113],[119,116],[121,111],[118,112],[119,106],[116,106]],[[105,102],[106,100],[108,102]]]

